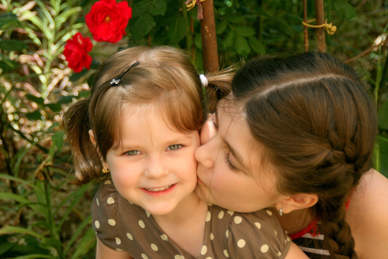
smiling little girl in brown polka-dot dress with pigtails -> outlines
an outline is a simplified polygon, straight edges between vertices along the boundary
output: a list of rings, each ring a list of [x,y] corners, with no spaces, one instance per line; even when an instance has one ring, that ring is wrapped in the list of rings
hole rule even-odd
[[[206,79],[178,49],[134,47],[104,61],[90,97],[65,112],[79,182],[111,175],[92,204],[97,258],[303,254],[269,210],[242,215],[208,206],[194,192],[202,86],[227,89],[232,75]]]

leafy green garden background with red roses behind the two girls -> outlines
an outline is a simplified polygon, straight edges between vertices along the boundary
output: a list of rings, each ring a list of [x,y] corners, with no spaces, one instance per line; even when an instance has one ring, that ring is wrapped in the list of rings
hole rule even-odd
[[[110,7],[99,7],[103,1]],[[1,258],[94,258],[96,185],[69,184],[61,115],[87,96],[102,60],[128,46],[171,45],[193,53],[204,70],[198,5],[187,11],[183,0],[96,2],[0,1]],[[306,2],[308,19],[315,18],[315,1]],[[98,23],[101,12],[107,14]],[[220,67],[305,51],[301,0],[214,0],[214,13]],[[337,27],[326,33],[327,52],[355,68],[376,100],[374,168],[388,176],[388,1],[325,0],[324,17]],[[310,51],[317,50],[315,30],[308,28]]]

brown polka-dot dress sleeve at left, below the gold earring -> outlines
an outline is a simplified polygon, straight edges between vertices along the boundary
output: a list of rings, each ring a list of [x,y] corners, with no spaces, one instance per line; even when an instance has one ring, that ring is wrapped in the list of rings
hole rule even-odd
[[[107,247],[117,251],[125,250],[123,226],[118,209],[118,192],[107,180],[102,184],[92,202],[92,221],[98,239]]]

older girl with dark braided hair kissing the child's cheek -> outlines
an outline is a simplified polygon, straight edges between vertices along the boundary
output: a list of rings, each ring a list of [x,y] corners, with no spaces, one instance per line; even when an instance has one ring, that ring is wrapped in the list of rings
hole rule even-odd
[[[310,258],[386,257],[376,110],[352,69],[325,53],[253,59],[212,119],[196,151],[200,198],[240,212],[272,203]]]

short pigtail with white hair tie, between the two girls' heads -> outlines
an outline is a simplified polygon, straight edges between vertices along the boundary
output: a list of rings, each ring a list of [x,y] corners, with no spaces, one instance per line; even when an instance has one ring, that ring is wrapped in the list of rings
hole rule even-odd
[[[206,87],[206,103],[208,107],[206,110],[208,112],[213,113],[217,101],[230,93],[231,83],[235,73],[236,66],[230,66],[206,74],[206,79],[208,80],[208,86]]]

